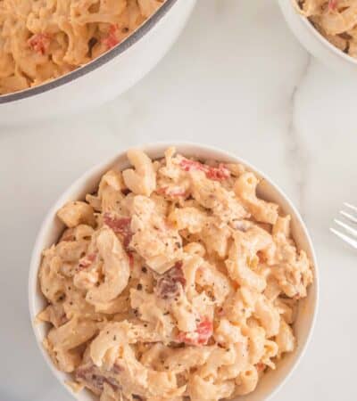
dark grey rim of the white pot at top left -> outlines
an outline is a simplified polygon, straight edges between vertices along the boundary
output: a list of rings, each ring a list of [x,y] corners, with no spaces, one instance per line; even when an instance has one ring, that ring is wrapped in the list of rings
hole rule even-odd
[[[171,7],[178,3],[179,0],[166,0],[160,8],[154,12],[147,20],[145,20],[129,37],[126,37],[119,45],[116,45],[107,52],[96,57],[94,60],[87,62],[83,66],[76,70],[67,72],[61,77],[51,79],[50,81],[40,84],[38,86],[29,87],[18,92],[11,94],[0,94],[0,105],[20,101],[37,94],[44,94],[51,89],[54,89],[65,84],[69,84],[71,81],[87,75],[89,72],[104,66],[109,61],[112,61],[115,57],[121,53],[126,52],[130,47],[135,45],[142,37],[144,37],[154,26],[162,20],[162,18],[170,11]],[[1,107],[1,106],[0,106]]]

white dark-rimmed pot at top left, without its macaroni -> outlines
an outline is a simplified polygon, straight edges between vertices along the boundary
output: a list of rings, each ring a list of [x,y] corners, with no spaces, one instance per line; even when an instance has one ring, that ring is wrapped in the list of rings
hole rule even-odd
[[[130,37],[61,78],[0,95],[0,124],[23,124],[87,110],[123,93],[170,49],[196,0],[166,0]]]

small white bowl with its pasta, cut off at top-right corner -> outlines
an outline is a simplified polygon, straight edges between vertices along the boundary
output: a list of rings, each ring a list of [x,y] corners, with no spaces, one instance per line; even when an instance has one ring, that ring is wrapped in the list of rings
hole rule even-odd
[[[355,74],[357,0],[279,0],[299,42],[329,68]]]

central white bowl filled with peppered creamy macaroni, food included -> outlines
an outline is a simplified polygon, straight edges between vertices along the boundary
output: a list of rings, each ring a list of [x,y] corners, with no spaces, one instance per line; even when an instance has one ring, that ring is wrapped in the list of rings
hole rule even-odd
[[[88,171],[37,236],[29,310],[80,401],[268,399],[311,336],[303,220],[244,160],[154,144]]]

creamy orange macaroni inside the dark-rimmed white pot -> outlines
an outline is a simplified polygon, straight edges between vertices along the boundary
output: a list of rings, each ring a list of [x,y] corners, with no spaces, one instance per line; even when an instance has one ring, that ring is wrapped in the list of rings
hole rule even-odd
[[[0,95],[71,72],[118,45],[163,0],[2,0]]]

